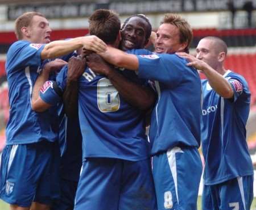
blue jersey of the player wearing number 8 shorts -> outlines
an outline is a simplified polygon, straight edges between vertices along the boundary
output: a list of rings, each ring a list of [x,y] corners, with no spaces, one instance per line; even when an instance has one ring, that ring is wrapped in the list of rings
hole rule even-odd
[[[155,81],[158,102],[150,125],[151,154],[174,146],[200,146],[201,82],[175,54],[137,56],[138,75]]]

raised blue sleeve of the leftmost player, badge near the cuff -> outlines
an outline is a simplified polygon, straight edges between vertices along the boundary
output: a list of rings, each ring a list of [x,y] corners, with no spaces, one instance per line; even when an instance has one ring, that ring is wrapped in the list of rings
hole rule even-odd
[[[16,41],[7,53],[7,69],[20,70],[27,66],[40,66],[44,46],[44,44],[32,44],[28,41]]]

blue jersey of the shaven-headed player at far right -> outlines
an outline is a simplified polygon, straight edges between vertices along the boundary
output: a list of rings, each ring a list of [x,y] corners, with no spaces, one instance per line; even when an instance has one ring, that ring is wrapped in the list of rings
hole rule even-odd
[[[202,80],[202,148],[204,182],[207,185],[253,174],[245,129],[250,110],[250,91],[241,75],[228,70],[224,77],[233,88],[233,100],[222,98],[207,80]]]

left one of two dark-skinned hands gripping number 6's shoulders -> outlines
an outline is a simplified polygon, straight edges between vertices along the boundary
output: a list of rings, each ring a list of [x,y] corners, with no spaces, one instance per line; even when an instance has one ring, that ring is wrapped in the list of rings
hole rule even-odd
[[[86,68],[86,60],[84,56],[72,56],[68,60],[68,81],[77,81],[77,79],[84,73]]]

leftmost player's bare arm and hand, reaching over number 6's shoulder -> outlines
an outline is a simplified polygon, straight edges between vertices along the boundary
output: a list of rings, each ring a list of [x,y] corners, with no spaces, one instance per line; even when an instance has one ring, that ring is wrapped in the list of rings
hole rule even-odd
[[[81,36],[71,40],[52,41],[44,46],[41,59],[63,56],[82,47],[100,53],[105,51],[106,44],[97,36]]]

